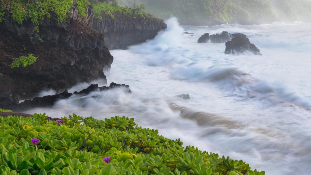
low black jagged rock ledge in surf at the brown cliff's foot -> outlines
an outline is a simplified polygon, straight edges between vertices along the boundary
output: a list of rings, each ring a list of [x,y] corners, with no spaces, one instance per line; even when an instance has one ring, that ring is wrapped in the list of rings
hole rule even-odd
[[[132,93],[129,86],[124,85],[124,84],[120,85],[116,83],[110,83],[109,86],[102,86],[102,87],[98,87],[98,84],[92,84],[86,89],[81,90],[80,92],[69,93],[67,90],[65,90],[60,94],[46,95],[44,97],[35,97],[34,99],[28,99],[19,104],[9,106],[8,108],[13,109],[13,110],[21,110],[21,109],[35,108],[35,107],[49,107],[49,106],[53,106],[53,104],[55,104],[56,101],[60,99],[67,99],[73,94],[86,95],[94,91],[111,90],[114,88],[125,88],[126,92]]]

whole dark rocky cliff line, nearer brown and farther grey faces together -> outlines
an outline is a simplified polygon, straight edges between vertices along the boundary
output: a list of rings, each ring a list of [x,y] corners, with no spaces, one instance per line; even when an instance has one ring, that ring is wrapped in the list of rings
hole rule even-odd
[[[0,22],[0,108],[47,88],[62,90],[78,82],[106,80],[103,69],[113,62],[108,48],[138,44],[166,28],[157,18],[129,20],[120,15],[100,20],[91,6],[86,7],[86,17],[79,15],[76,5],[67,16],[59,23],[51,13],[50,19],[39,20],[38,25],[30,19],[18,24],[4,16]],[[35,63],[11,68],[13,61],[30,53],[37,57]]]

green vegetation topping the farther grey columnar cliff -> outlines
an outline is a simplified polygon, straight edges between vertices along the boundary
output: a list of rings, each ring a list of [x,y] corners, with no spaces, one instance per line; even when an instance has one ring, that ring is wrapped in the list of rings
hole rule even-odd
[[[115,15],[125,15],[125,16],[140,16],[142,18],[154,18],[150,13],[141,11],[141,10],[133,10],[127,7],[120,6],[112,6],[107,3],[97,2],[92,5],[94,13],[98,16],[99,19],[102,19],[101,12],[104,12],[106,16],[114,18]],[[135,16],[134,16],[135,17]]]

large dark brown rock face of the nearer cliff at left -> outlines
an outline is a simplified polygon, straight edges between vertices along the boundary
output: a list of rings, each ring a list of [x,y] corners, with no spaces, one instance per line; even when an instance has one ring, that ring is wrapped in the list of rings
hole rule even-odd
[[[81,18],[73,6],[60,24],[53,14],[49,20],[39,20],[37,33],[30,20],[19,25],[4,16],[0,22],[0,108],[18,103],[17,95],[25,99],[45,88],[66,89],[81,81],[105,79],[103,68],[110,67],[113,57],[104,36],[87,26],[93,17],[91,7],[87,17]],[[28,53],[38,57],[35,63],[10,67]]]

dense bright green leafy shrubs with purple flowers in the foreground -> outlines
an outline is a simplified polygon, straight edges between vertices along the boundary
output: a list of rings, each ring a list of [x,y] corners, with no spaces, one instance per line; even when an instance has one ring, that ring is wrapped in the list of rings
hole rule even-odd
[[[264,175],[243,160],[183,147],[133,118],[0,117],[1,174]]]

